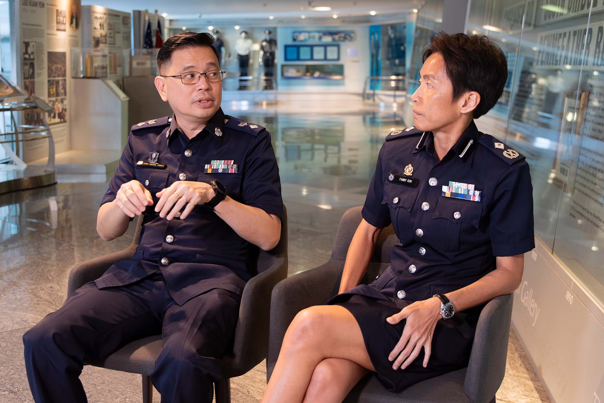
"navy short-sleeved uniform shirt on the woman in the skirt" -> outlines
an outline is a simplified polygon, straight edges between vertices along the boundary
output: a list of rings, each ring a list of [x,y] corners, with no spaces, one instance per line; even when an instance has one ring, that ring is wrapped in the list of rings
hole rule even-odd
[[[395,301],[463,288],[495,269],[496,256],[535,247],[528,164],[474,121],[441,161],[430,132],[388,135],[362,217],[374,227],[392,222],[399,239],[390,272],[370,285]],[[350,292],[367,286],[359,287]]]

